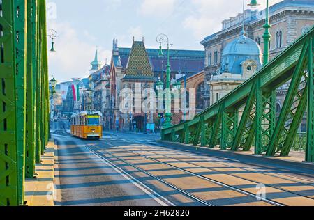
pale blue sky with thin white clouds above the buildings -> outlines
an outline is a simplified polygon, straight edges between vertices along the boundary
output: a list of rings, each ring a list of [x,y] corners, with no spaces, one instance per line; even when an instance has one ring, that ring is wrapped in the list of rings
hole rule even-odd
[[[260,0],[257,9],[265,2]],[[113,38],[119,47],[131,47],[133,36],[144,36],[147,48],[158,48],[156,36],[165,33],[172,49],[204,50],[200,41],[220,31],[221,22],[242,7],[243,0],[47,0],[47,29],[58,33],[56,52],[48,54],[50,79],[88,77],[96,47],[100,63],[109,64]]]

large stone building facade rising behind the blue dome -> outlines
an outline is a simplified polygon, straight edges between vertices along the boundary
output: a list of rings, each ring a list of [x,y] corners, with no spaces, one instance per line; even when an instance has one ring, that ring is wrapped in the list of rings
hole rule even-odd
[[[271,23],[270,59],[284,49],[314,25],[314,1],[285,0],[269,8]],[[264,47],[265,11],[245,11],[246,36]],[[222,54],[225,47],[235,38],[241,36],[243,14],[223,21],[223,29],[201,42],[205,48],[205,81],[209,84],[213,75],[221,68]]]

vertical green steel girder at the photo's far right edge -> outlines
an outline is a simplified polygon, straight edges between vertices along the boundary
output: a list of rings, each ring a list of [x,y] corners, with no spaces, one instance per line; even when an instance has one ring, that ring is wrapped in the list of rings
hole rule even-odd
[[[306,161],[314,162],[314,37],[308,41],[308,132]]]

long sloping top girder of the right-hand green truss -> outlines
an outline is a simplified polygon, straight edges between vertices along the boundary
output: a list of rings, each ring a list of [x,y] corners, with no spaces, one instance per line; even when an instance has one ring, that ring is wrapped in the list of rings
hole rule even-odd
[[[281,86],[286,81],[291,79],[293,75],[292,70],[295,68],[295,65],[297,65],[304,41],[308,39],[309,36],[313,35],[313,32],[314,27],[311,29],[311,31],[306,33],[304,36],[301,36],[301,38],[296,40],[292,45],[290,45],[290,47],[287,47],[285,51],[270,61],[268,65],[265,65],[262,70],[244,82],[244,84],[238,86],[236,89],[234,89],[234,91],[223,97],[208,109],[202,111],[202,113],[197,114],[193,120],[186,122],[188,123],[188,126],[190,127],[197,124],[199,117],[202,115],[204,115],[205,121],[216,117],[218,115],[220,105],[223,102],[225,103],[225,108],[227,109],[241,105],[244,100],[248,99],[251,88],[257,79],[260,79],[260,88],[263,90],[267,90],[269,88],[278,88],[278,86]],[[179,132],[184,129],[184,125],[186,123],[180,123],[179,125],[175,125],[170,129],[163,129],[163,133],[170,134],[172,128],[176,129],[176,132]]]

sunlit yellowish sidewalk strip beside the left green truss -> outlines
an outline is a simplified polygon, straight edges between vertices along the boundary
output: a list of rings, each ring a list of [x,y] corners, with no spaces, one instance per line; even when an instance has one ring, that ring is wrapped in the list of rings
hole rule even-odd
[[[50,140],[36,165],[36,178],[25,181],[25,201],[28,206],[54,206],[54,140]]]

